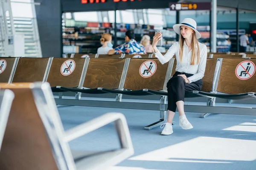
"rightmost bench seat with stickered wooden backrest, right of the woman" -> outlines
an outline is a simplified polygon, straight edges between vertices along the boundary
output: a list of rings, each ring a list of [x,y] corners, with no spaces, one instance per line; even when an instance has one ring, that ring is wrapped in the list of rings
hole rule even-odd
[[[240,66],[242,63],[245,63],[243,67]],[[247,63],[250,63],[250,65],[247,65]],[[255,70],[253,71],[255,65],[256,59],[223,59],[217,88],[217,92],[222,94],[203,92],[200,92],[200,94],[222,99],[255,99],[256,75]]]

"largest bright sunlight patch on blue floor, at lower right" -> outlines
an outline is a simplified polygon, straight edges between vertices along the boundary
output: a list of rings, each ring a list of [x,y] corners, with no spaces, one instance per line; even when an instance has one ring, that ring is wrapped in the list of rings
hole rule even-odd
[[[200,136],[129,160],[232,163],[256,160],[256,141]]]

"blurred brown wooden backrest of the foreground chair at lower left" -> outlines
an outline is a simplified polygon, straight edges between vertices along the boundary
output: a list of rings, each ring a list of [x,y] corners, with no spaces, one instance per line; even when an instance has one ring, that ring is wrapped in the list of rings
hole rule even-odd
[[[58,170],[29,85],[0,85],[10,89],[12,102],[0,150],[1,170]]]

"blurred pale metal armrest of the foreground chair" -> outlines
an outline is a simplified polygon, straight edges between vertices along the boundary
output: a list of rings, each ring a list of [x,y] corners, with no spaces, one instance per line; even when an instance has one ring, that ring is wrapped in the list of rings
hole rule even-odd
[[[130,148],[133,150],[131,136],[125,116],[122,113],[106,113],[89,122],[78,125],[66,132],[65,141],[70,142],[80,136],[83,136],[93,130],[99,129],[111,122],[115,122],[116,131],[122,148]]]

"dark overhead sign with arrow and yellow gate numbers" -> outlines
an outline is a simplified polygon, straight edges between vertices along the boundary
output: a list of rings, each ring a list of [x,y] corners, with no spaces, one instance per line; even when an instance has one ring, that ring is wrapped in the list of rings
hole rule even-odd
[[[211,10],[211,2],[170,3],[169,7],[171,11]]]

